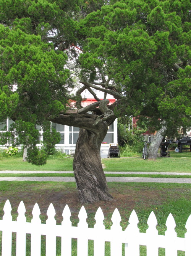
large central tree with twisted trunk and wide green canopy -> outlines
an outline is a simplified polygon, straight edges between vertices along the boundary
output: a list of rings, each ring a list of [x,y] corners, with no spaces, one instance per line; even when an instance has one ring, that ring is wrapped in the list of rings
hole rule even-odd
[[[0,6],[1,118],[23,127],[23,144],[31,145],[29,160],[36,164],[44,159],[35,147],[36,124],[44,132],[47,121],[79,127],[73,169],[80,201],[112,200],[100,161],[107,127],[125,114],[147,117],[153,127],[171,120],[161,106],[172,91],[169,82],[189,64],[190,2],[4,0]],[[67,63],[82,85],[76,97],[68,94],[73,81]],[[82,107],[85,89],[96,102]],[[92,89],[104,92],[104,99]],[[107,94],[115,103],[108,105]]]

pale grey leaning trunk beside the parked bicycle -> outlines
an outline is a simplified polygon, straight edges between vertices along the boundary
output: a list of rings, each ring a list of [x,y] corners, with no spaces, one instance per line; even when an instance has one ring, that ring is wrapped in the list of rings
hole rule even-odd
[[[149,146],[149,153],[148,153],[148,159],[156,159],[157,158],[157,153],[160,147],[160,143],[162,142],[163,139],[163,134],[165,130],[167,129],[167,126],[165,125],[165,121],[162,122],[162,127],[160,130],[157,131],[155,134],[150,146]]]

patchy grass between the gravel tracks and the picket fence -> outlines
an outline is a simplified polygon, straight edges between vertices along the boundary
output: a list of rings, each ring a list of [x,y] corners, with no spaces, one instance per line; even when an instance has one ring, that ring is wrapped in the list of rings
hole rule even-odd
[[[164,235],[166,231],[165,222],[169,213],[172,213],[176,222],[176,232],[179,237],[184,237],[186,233],[185,223],[191,213],[191,186],[189,184],[168,184],[168,183],[108,183],[110,193],[114,196],[113,201],[104,202],[100,201],[85,205],[87,211],[87,223],[89,227],[95,224],[94,216],[97,208],[100,206],[104,212],[104,225],[110,229],[112,225],[111,216],[115,209],[118,208],[121,215],[121,227],[125,230],[128,226],[129,216],[134,209],[139,218],[139,229],[141,232],[146,232],[147,219],[154,211],[158,221],[157,230],[160,235]],[[18,216],[17,208],[21,200],[24,201],[26,206],[27,221],[32,218],[32,208],[37,201],[41,215],[42,223],[45,223],[47,216],[46,211],[50,204],[53,203],[56,210],[57,224],[60,225],[62,221],[62,210],[66,203],[68,203],[71,212],[72,225],[78,224],[78,213],[81,208],[78,200],[73,199],[77,196],[76,185],[74,182],[0,182],[0,219],[3,216],[3,205],[6,199],[10,199],[12,205],[13,220]],[[72,200],[72,201],[71,201]],[[62,205],[62,209],[61,206]],[[15,234],[13,235],[15,246]],[[60,238],[57,239],[58,253],[60,256]],[[76,239],[72,241],[73,247],[72,256],[77,255]],[[30,255],[30,235],[28,235],[27,253]],[[45,238],[42,236],[42,256],[45,255]],[[105,243],[106,253],[105,256],[110,255],[109,243]],[[93,241],[89,241],[89,256],[92,256]],[[145,256],[146,249],[144,246],[140,247],[141,256]],[[13,254],[15,255],[15,254]],[[165,255],[164,250],[160,249],[160,256]],[[185,255],[182,252],[178,256]],[[123,252],[124,256],[124,252]]]

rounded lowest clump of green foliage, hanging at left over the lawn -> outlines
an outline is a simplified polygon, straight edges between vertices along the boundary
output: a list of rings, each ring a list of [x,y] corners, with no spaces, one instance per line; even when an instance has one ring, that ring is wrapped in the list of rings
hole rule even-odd
[[[29,147],[27,149],[27,161],[32,165],[44,165],[47,162],[47,153],[44,149],[38,147]]]

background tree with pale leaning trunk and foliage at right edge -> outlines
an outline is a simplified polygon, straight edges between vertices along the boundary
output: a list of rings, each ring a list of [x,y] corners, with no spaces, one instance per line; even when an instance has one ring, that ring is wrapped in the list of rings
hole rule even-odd
[[[168,83],[165,89],[165,97],[159,106],[163,121],[149,146],[148,159],[156,159],[160,143],[165,135],[174,137],[177,135],[178,128],[188,127],[189,129],[191,127],[191,66],[188,65],[185,69],[180,68],[177,79]]]

